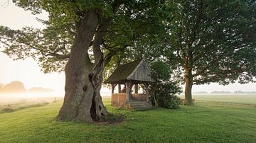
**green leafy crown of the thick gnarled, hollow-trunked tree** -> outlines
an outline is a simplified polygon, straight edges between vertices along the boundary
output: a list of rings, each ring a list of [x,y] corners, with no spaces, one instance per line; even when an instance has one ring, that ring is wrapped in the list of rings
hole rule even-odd
[[[87,11],[94,11],[102,18],[110,20],[101,51],[104,55],[112,52],[118,58],[129,53],[129,48],[140,36],[154,29],[154,11],[161,1],[14,1],[16,6],[33,14],[48,13],[48,20],[40,20],[45,29],[23,28],[11,30],[0,27],[1,43],[4,52],[14,59],[33,57],[44,72],[63,71],[68,62],[70,49],[80,22]],[[150,23],[149,23],[150,21]],[[146,28],[145,28],[146,26]],[[96,31],[95,31],[96,33]],[[92,49],[90,49],[92,50]],[[92,62],[94,55],[90,57]],[[127,58],[126,58],[127,59]],[[127,62],[127,61],[125,61]]]

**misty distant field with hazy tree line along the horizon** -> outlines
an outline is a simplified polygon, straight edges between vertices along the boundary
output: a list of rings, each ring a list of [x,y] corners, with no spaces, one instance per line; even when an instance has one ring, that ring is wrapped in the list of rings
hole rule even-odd
[[[114,93],[118,90],[115,88]],[[142,93],[142,89],[139,93]],[[101,96],[110,98],[112,93],[110,88],[102,87]],[[65,92],[54,91],[51,88],[33,87],[25,88],[21,81],[11,81],[8,84],[0,84],[0,112],[1,110],[16,110],[16,108],[26,108],[28,106],[48,104],[55,101],[63,101]],[[184,93],[179,95],[184,98]],[[256,104],[255,91],[198,91],[193,93],[196,101],[214,101],[227,103]]]

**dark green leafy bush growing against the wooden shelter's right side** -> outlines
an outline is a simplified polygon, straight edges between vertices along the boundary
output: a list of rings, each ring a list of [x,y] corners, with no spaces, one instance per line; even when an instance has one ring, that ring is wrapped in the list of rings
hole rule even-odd
[[[156,61],[151,64],[151,74],[156,82],[149,86],[151,102],[162,108],[176,109],[181,105],[181,99],[175,94],[181,93],[177,82],[171,81],[171,71],[167,64]]]

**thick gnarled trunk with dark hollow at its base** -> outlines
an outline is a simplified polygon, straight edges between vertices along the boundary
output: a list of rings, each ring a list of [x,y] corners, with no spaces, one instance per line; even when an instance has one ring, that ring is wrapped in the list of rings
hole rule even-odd
[[[65,98],[58,120],[92,122],[108,114],[100,96],[103,55],[92,64],[87,53],[99,22],[97,13],[90,11],[80,23],[65,67]]]

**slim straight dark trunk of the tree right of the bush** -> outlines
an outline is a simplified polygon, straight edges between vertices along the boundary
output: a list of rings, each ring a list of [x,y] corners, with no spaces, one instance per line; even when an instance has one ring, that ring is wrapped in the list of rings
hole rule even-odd
[[[186,105],[193,105],[192,101],[192,86],[193,86],[193,75],[192,69],[186,69],[185,75],[185,104]]]

